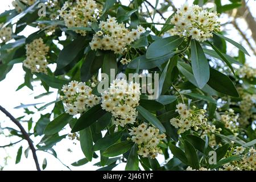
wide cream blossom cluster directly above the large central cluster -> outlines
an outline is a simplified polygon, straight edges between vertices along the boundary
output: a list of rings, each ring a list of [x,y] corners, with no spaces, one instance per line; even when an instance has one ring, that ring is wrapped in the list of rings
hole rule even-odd
[[[129,31],[125,28],[125,24],[117,23],[115,17],[108,18],[106,22],[101,21],[99,28],[101,30],[93,36],[92,42],[90,42],[92,50],[112,50],[117,54],[123,53],[126,46],[139,39],[141,34],[146,31],[142,26]]]

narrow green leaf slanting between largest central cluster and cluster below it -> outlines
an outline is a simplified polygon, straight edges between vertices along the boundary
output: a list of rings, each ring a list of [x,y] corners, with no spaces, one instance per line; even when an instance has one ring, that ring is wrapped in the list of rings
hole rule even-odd
[[[150,113],[150,111],[147,111],[142,106],[137,106],[138,112],[142,115],[144,119],[146,119],[148,122],[150,122],[152,125],[154,125],[156,128],[158,128],[161,132],[165,133],[166,129],[162,125],[162,123],[156,118],[153,114]]]

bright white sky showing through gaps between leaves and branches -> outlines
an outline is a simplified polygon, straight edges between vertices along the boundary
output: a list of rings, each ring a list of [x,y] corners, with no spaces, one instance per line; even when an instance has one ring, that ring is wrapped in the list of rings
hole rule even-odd
[[[12,0],[1,1],[0,13],[2,13],[5,10],[9,10],[11,2],[12,2]],[[126,0],[123,2],[127,3],[128,1]],[[151,0],[150,2],[153,5],[155,4],[154,0]],[[162,1],[160,1],[160,2],[162,2]],[[174,4],[176,5],[176,7],[179,7],[184,2],[185,2],[185,0],[179,0],[179,1],[176,0],[176,1],[174,1]],[[191,3],[192,1],[188,1],[188,2]],[[223,2],[225,3],[227,1],[223,1]],[[255,1],[249,0],[249,3],[251,5],[250,7],[256,7]],[[11,9],[12,9],[12,7],[11,7]],[[164,15],[166,15],[166,17],[168,17],[168,14],[171,14],[171,13],[172,12],[169,12]],[[256,12],[254,12],[254,13],[256,14]],[[256,15],[255,15],[255,17],[256,17]],[[159,15],[156,15],[155,19],[156,19],[155,22],[157,22],[157,20],[159,19]],[[222,16],[221,22],[226,22],[227,20],[228,20],[228,18],[226,16]],[[243,20],[239,20],[239,23],[242,25],[242,27],[246,27],[246,24],[245,24],[245,22],[243,22]],[[245,24],[245,25],[243,26],[243,24]],[[237,41],[238,43],[240,43],[242,38],[240,35],[237,34],[237,32],[234,31],[233,27],[226,26],[226,28],[227,28],[227,30],[229,30],[227,36],[229,38],[232,38],[233,40]],[[34,31],[36,31],[34,28],[27,28],[26,30],[24,30],[22,32],[22,35],[28,36]],[[251,32],[246,31],[246,35],[248,38],[250,38]],[[255,47],[253,40],[251,41],[251,43]],[[253,53],[251,53],[250,49],[246,45],[243,45],[243,46],[245,46],[245,48],[249,51],[250,55],[253,55]],[[237,55],[237,49],[234,48],[233,46],[230,46],[229,44],[228,44],[228,51],[231,54]],[[256,67],[255,56],[247,57],[247,61],[252,67]],[[50,90],[50,91],[54,91],[55,93],[53,93],[49,96],[40,98],[38,100],[34,100],[35,96],[38,96],[39,94],[42,94],[45,92],[45,90],[42,88],[42,86],[40,86],[39,82],[34,83],[34,85],[35,85],[34,91],[24,87],[23,89],[19,90],[18,92],[15,92],[15,90],[18,88],[18,86],[20,84],[22,84],[23,82],[24,82],[24,71],[22,69],[22,64],[15,64],[14,68],[7,74],[6,79],[4,81],[0,82],[0,105],[5,107],[11,114],[14,115],[14,117],[18,118],[18,117],[24,115],[23,109],[14,109],[14,107],[20,105],[20,103],[22,103],[22,104],[34,104],[34,103],[39,103],[39,102],[48,103],[48,102],[56,100],[57,94],[56,94],[55,89]],[[29,109],[33,110],[31,107]],[[53,109],[53,105],[49,106],[47,110],[44,110],[37,114],[34,114],[33,121],[36,122],[40,118],[40,114],[49,113],[52,109]],[[26,118],[26,119],[29,119],[29,118]],[[3,121],[5,121],[5,122],[3,123]],[[9,126],[9,127],[16,128],[16,126],[13,125],[13,123],[8,118],[6,118],[6,116],[2,113],[0,113],[0,125],[2,127]],[[25,129],[27,129],[26,123],[24,123],[23,126]],[[69,131],[70,131],[69,129],[64,130],[64,131],[62,131],[62,133],[67,134]],[[38,139],[40,140],[40,137],[38,137]],[[32,138],[32,140],[34,140],[34,144],[37,144],[39,142],[38,139]],[[0,146],[9,144],[10,142],[16,142],[18,140],[19,140],[19,138],[13,138],[13,140],[10,141],[9,138],[6,138],[3,135],[0,135]],[[87,163],[81,167],[72,167],[70,165],[71,163],[84,158],[84,154],[82,154],[79,142],[77,142],[77,144],[73,144],[73,142],[74,141],[72,141],[72,140],[64,139],[61,142],[59,142],[56,146],[53,147],[56,150],[57,155],[58,155],[59,159],[61,160],[61,162],[63,162],[67,166],[69,166],[72,170],[96,170],[96,169],[98,169],[99,167],[93,166],[93,164],[99,162],[99,160],[100,160],[99,158],[93,159],[92,163]],[[26,148],[28,147],[26,140],[24,140],[22,143],[16,144],[13,147],[5,148],[5,149],[0,148],[0,166],[3,166],[3,158],[7,155],[9,156],[8,165],[4,168],[4,170],[35,170],[35,164],[34,164],[34,160],[32,158],[31,152],[28,155],[28,159],[26,159],[24,157],[24,155],[22,155],[21,162],[19,164],[15,164],[16,152],[18,151],[20,144],[22,144],[23,152],[24,152],[24,150],[26,150]],[[72,152],[68,152],[68,148],[70,148],[72,150]],[[42,168],[42,163],[43,163],[44,158],[47,158],[46,170],[67,170],[67,168],[65,166],[63,166],[63,164],[61,164],[59,162],[59,160],[54,158],[52,155],[47,154],[43,151],[38,151],[37,155],[39,158],[39,163],[41,165],[41,168]],[[163,157],[159,158],[159,162],[160,163],[164,162]],[[119,164],[114,169],[123,170],[124,168],[125,168],[125,164]]]

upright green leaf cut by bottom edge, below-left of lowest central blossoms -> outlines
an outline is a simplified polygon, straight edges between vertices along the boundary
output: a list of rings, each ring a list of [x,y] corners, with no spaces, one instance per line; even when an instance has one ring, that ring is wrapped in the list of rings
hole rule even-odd
[[[125,166],[126,171],[138,171],[139,169],[139,158],[138,158],[138,147],[136,144],[131,147],[129,158]]]

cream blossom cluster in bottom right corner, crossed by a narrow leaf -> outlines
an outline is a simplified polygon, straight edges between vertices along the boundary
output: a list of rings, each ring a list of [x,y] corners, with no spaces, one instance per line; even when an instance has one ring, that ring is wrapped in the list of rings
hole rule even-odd
[[[255,171],[256,170],[256,150],[251,147],[249,151],[245,147],[231,147],[228,156],[242,155],[242,159],[224,164],[220,171]],[[228,157],[227,156],[227,157]]]

